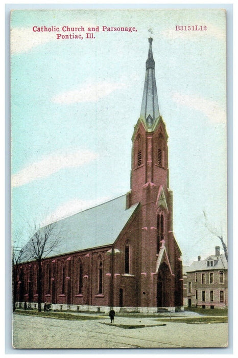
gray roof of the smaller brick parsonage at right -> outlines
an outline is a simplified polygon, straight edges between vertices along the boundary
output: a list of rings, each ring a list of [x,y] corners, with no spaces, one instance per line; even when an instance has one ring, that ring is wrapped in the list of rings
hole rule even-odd
[[[207,261],[213,260],[213,266],[207,266]],[[210,255],[205,260],[194,261],[188,266],[186,272],[205,271],[205,270],[224,270],[227,269],[227,261],[225,255]]]

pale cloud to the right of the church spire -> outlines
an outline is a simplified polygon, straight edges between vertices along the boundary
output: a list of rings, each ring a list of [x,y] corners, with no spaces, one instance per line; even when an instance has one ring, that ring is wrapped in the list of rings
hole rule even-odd
[[[175,93],[173,100],[180,104],[202,112],[212,123],[225,123],[226,111],[216,101],[209,101],[198,96]]]

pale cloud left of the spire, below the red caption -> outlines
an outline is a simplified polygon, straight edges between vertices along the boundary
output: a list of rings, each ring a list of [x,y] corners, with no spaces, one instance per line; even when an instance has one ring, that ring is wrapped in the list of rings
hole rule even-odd
[[[116,89],[125,87],[124,83],[113,83],[102,81],[98,83],[87,83],[80,89],[64,92],[52,98],[55,103],[78,103],[97,102],[99,99],[108,96]]]

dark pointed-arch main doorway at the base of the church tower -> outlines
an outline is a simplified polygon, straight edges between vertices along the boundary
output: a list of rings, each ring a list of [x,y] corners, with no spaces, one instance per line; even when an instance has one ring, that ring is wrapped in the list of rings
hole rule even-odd
[[[171,274],[168,265],[163,262],[157,276],[157,307],[170,307]]]

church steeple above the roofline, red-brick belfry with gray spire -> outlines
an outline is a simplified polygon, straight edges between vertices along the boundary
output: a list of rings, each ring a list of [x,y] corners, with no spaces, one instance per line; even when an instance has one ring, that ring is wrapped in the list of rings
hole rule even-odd
[[[168,135],[159,114],[152,38],[149,38],[149,44],[141,112],[132,136],[129,206],[144,203],[146,190],[149,193],[153,188],[153,194],[150,195],[153,196],[151,202],[154,202],[160,186],[169,187]]]

